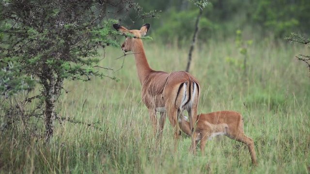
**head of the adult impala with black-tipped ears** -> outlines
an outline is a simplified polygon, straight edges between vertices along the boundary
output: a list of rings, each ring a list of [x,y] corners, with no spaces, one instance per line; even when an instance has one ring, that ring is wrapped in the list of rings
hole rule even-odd
[[[113,24],[113,28],[117,31],[121,31],[125,35],[125,42],[122,44],[122,50],[132,51],[136,42],[141,42],[141,37],[144,36],[150,28],[150,24],[144,24],[140,30],[132,29],[128,30],[119,24]],[[128,36],[128,37],[127,37]]]

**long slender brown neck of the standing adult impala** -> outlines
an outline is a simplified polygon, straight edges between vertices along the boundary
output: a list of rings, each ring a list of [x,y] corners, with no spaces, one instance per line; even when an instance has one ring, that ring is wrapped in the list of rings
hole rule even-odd
[[[150,68],[149,63],[147,62],[147,59],[144,53],[143,43],[141,39],[136,40],[136,43],[132,49],[132,52],[135,55],[136,66],[137,66],[140,83],[143,84],[145,78],[149,75],[149,73],[151,73],[152,69]]]

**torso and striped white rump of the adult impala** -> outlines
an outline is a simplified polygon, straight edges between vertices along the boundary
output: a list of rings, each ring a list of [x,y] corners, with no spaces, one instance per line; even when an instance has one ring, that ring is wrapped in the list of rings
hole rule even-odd
[[[148,108],[162,110],[171,99],[171,107],[187,110],[198,102],[199,89],[198,81],[189,73],[154,71],[142,84],[142,99]]]

